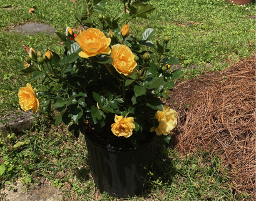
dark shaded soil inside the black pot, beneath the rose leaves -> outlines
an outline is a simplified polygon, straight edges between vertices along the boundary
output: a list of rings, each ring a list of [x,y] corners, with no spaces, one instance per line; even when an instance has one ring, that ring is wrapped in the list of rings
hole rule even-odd
[[[134,148],[133,144],[131,144],[131,141],[134,140],[135,138],[138,139],[138,137],[135,136],[135,133],[133,133],[133,135],[131,135],[131,137],[128,138],[125,138],[123,136],[118,137],[114,135],[113,132],[111,132],[110,125],[106,125],[104,128],[104,132],[101,133],[96,131],[95,126],[93,124],[85,124],[86,136],[89,139],[95,141],[96,143],[106,145],[107,147],[115,147],[121,149]],[[148,141],[150,141],[155,135],[155,132],[142,132],[142,134],[140,134],[139,137],[139,142],[137,140],[136,143],[139,143],[140,146],[144,145]],[[136,145],[138,146],[138,144]]]

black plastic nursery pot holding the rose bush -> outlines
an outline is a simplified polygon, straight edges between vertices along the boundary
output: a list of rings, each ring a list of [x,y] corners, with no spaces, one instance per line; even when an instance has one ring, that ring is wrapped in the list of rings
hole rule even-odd
[[[101,192],[127,198],[146,189],[148,171],[155,162],[157,135],[138,149],[107,147],[85,137],[93,180]]]

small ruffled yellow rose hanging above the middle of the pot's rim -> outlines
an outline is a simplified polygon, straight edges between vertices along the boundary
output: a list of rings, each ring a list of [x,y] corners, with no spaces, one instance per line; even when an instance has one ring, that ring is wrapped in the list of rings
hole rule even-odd
[[[115,115],[115,123],[111,125],[111,131],[118,137],[130,137],[135,129],[134,118]]]

